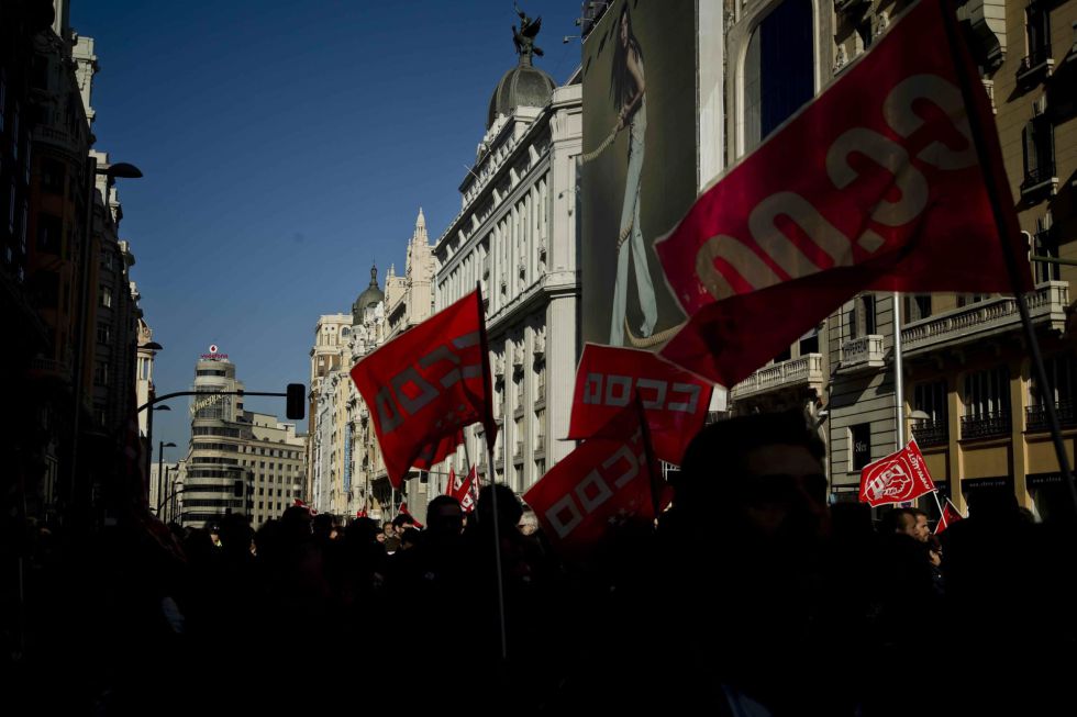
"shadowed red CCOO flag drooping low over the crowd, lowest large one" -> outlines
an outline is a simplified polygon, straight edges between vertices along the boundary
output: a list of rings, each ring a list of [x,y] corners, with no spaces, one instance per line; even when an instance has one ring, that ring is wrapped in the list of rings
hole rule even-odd
[[[523,496],[546,534],[566,550],[599,542],[611,525],[654,520],[649,461],[635,407],[614,421],[634,423],[635,430],[604,429],[603,435],[630,437],[585,441]]]

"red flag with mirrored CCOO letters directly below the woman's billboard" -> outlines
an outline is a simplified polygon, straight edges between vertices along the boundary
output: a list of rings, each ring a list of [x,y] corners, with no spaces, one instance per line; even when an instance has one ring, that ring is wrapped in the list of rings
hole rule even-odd
[[[709,381],[651,351],[588,344],[576,369],[568,437],[591,438],[603,427],[618,425],[611,421],[637,393],[655,456],[680,464],[688,442],[707,421],[712,391]]]

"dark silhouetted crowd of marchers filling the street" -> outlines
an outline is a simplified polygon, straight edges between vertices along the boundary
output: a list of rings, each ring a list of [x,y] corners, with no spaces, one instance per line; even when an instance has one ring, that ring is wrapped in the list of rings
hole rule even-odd
[[[797,415],[712,424],[656,525],[571,560],[504,485],[422,529],[37,530],[8,677],[64,715],[1068,714],[1074,522],[992,495],[937,539],[876,525],[828,504],[822,458]]]

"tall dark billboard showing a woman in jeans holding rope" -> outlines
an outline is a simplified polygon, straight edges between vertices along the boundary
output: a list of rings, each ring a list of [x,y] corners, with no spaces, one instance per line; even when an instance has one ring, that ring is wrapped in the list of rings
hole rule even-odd
[[[584,340],[658,349],[685,321],[654,242],[696,198],[696,3],[617,0],[584,44]]]

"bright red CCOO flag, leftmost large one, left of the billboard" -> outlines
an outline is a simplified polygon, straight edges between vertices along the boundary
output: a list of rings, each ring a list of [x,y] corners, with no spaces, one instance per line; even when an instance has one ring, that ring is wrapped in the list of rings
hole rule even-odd
[[[425,449],[434,446],[433,459],[464,426],[481,421],[488,440],[497,437],[481,311],[475,291],[352,369],[396,488]]]

